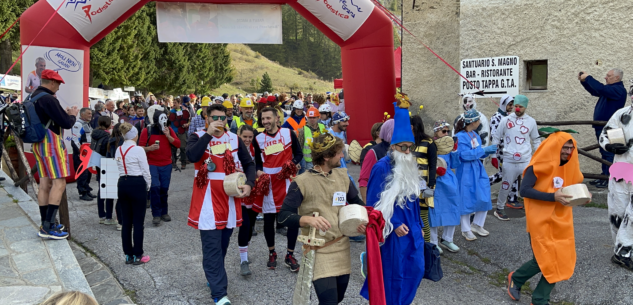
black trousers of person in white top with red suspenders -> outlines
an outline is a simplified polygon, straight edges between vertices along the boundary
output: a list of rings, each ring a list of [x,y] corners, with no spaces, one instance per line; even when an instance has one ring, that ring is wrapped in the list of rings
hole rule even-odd
[[[147,184],[143,176],[122,176],[118,183],[118,205],[123,218],[121,241],[125,255],[143,255],[143,229]],[[139,192],[139,190],[141,190]],[[134,235],[132,236],[132,228]],[[134,244],[132,244],[134,240]]]

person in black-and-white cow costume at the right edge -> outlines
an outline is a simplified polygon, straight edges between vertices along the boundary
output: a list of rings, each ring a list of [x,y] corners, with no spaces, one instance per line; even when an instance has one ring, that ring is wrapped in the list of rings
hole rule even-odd
[[[629,92],[633,99],[633,80]],[[614,166],[617,163],[633,163],[633,106],[624,107],[613,114],[600,134],[600,146],[615,154]],[[627,144],[611,143],[607,131],[621,128]],[[612,167],[613,168],[613,167]],[[611,261],[633,271],[633,186],[628,179],[609,179],[609,221],[614,249]]]

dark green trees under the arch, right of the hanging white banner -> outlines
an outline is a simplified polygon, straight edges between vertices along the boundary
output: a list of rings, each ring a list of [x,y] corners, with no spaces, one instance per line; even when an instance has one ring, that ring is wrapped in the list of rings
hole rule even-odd
[[[282,6],[283,44],[249,45],[283,66],[314,72],[322,79],[341,77],[341,48],[292,7]]]

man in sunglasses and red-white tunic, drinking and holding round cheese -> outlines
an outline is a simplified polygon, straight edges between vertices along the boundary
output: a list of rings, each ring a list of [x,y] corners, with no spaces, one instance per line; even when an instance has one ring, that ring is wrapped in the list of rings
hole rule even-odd
[[[246,174],[246,184],[239,186],[242,190],[239,198],[250,195],[256,179],[256,168],[244,142],[225,129],[224,106],[210,105],[207,108],[207,123],[209,127],[206,131],[193,133],[187,142],[187,157],[195,163],[197,172],[188,225],[200,231],[202,267],[213,301],[215,304],[230,304],[224,259],[233,229],[242,225],[242,209],[240,201],[224,191],[224,161],[231,155],[235,168]]]

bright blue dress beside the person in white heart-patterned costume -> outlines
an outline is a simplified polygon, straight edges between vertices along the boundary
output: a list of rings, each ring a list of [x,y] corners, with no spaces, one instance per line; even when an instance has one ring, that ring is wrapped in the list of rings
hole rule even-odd
[[[476,132],[457,133],[457,153],[460,164],[455,174],[459,182],[459,197],[462,200],[461,215],[492,209],[490,201],[490,180],[479,159],[486,153],[481,147],[481,138]]]

